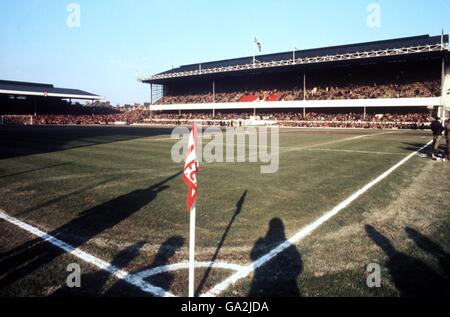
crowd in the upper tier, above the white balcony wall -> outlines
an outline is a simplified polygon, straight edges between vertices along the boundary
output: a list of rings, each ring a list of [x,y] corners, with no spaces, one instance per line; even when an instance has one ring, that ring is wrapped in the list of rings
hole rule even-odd
[[[254,96],[255,101],[296,101],[296,100],[340,100],[377,98],[436,97],[441,94],[439,80],[424,80],[403,84],[346,84],[323,85],[306,90],[294,87],[285,90],[246,90],[243,92],[205,93],[197,95],[164,96],[157,104],[229,103]],[[274,98],[275,97],[275,98]]]

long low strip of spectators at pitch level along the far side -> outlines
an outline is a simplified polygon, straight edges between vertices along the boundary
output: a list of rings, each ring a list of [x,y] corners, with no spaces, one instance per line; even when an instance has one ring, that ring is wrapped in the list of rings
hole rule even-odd
[[[259,113],[150,113],[131,111],[111,115],[37,115],[3,116],[3,124],[9,125],[108,125],[153,124],[188,125],[193,120],[208,126],[241,126],[247,120],[261,120],[283,127],[330,127],[330,128],[399,128],[421,129],[429,123],[428,113],[363,114],[363,113],[315,113],[300,112]]]

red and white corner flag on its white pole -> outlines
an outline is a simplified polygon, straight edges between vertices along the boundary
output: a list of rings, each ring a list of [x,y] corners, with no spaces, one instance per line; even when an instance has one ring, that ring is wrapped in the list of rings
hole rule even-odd
[[[194,297],[194,267],[195,267],[195,202],[197,200],[197,124],[194,123],[189,136],[186,163],[184,165],[183,178],[188,186],[187,204],[190,210],[189,228],[189,297]]]

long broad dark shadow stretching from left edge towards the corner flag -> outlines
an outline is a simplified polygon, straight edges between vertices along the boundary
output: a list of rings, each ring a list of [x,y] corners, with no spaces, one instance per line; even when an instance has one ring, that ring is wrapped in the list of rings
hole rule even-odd
[[[135,190],[90,208],[82,212],[78,218],[49,232],[49,235],[63,240],[74,248],[81,247],[151,203],[158,193],[168,188],[165,184],[180,174],[177,173],[158,184]],[[3,276],[0,279],[0,287],[26,277],[66,252],[37,238],[8,253],[11,256],[7,258],[2,256],[0,259],[0,276]]]

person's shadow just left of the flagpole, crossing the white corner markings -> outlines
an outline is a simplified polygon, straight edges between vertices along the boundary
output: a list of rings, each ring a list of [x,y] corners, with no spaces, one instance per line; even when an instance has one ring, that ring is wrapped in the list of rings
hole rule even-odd
[[[143,277],[144,281],[150,283],[153,286],[160,287],[165,291],[168,291],[172,286],[175,276],[170,272],[162,272],[159,274],[151,275],[146,277],[146,273],[150,272],[152,269],[163,267],[169,264],[169,260],[175,255],[175,253],[181,249],[184,245],[184,238],[181,236],[172,236],[167,239],[159,247],[158,253],[156,254],[153,262],[143,269],[139,269],[132,274],[139,274]],[[129,285],[124,281],[117,281],[114,285],[104,293],[105,296],[116,297],[116,296],[149,296],[151,294],[145,293],[134,287],[135,290],[132,291],[130,288],[133,286]]]

